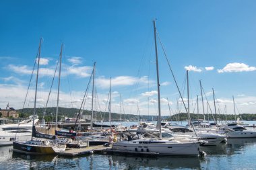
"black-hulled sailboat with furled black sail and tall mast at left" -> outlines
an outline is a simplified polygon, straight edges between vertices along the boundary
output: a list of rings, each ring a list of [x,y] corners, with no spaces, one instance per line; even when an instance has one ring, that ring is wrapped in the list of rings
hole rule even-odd
[[[38,85],[38,72],[39,72],[39,63],[40,63],[40,50],[41,50],[42,38],[40,39],[40,44],[38,48],[38,65],[37,65],[37,74],[36,74],[36,91],[34,97],[34,113],[33,113],[33,126],[32,126],[32,138],[26,142],[13,141],[13,152],[26,153],[31,155],[49,155],[55,154],[56,152],[65,151],[66,146],[63,144],[53,144],[50,140],[55,140],[56,136],[49,134],[42,134],[36,131],[36,126],[34,125],[34,119],[36,115],[36,94],[37,94],[37,85]],[[62,46],[61,54],[62,55]],[[35,138],[44,138],[44,140],[38,140]]]

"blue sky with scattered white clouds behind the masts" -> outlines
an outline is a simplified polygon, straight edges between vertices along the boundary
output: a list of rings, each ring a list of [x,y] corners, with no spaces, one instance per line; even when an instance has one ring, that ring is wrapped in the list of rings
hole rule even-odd
[[[255,7],[256,1],[233,0],[1,1],[0,108],[8,102],[13,108],[22,108],[42,37],[38,107],[46,103],[63,43],[61,106],[79,108],[96,61],[97,110],[105,108],[108,79],[113,77],[114,112],[119,112],[121,93],[125,113],[137,114],[138,103],[141,114],[148,114],[149,98],[150,114],[156,114],[157,104],[152,102],[157,99],[152,19],[157,18],[158,34],[181,89],[186,68],[190,70],[191,108],[200,94],[201,79],[211,107],[214,88],[222,112],[227,105],[228,114],[233,113],[234,95],[239,112],[253,114]],[[166,97],[175,110],[179,95],[159,42],[158,50],[162,114],[168,115]],[[51,106],[56,104],[56,82],[54,89]],[[33,93],[26,107],[32,108]],[[86,109],[90,109],[90,101]],[[201,104],[199,110],[202,112]]]

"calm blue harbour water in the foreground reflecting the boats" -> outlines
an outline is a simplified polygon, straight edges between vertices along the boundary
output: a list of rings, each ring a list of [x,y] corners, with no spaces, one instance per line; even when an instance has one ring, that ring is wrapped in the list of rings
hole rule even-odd
[[[256,122],[249,122],[256,124]],[[201,146],[197,157],[135,157],[122,155],[22,155],[0,147],[0,169],[256,169],[256,138],[228,139],[219,146]]]

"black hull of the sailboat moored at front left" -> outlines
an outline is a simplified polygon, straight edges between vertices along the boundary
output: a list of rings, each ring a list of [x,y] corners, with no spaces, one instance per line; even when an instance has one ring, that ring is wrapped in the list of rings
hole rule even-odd
[[[23,142],[13,142],[13,152],[26,153],[31,155],[55,154],[53,146],[36,146],[34,144],[25,144]]]

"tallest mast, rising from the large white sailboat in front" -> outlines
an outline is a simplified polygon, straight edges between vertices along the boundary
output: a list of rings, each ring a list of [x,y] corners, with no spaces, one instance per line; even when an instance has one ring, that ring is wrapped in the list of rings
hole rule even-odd
[[[156,21],[153,21],[154,24],[154,39],[155,39],[155,50],[156,50],[156,75],[158,83],[158,123],[157,127],[159,128],[159,138],[162,139],[162,130],[161,130],[161,104],[160,104],[160,83],[159,83],[159,73],[158,73],[158,46],[156,44]]]

